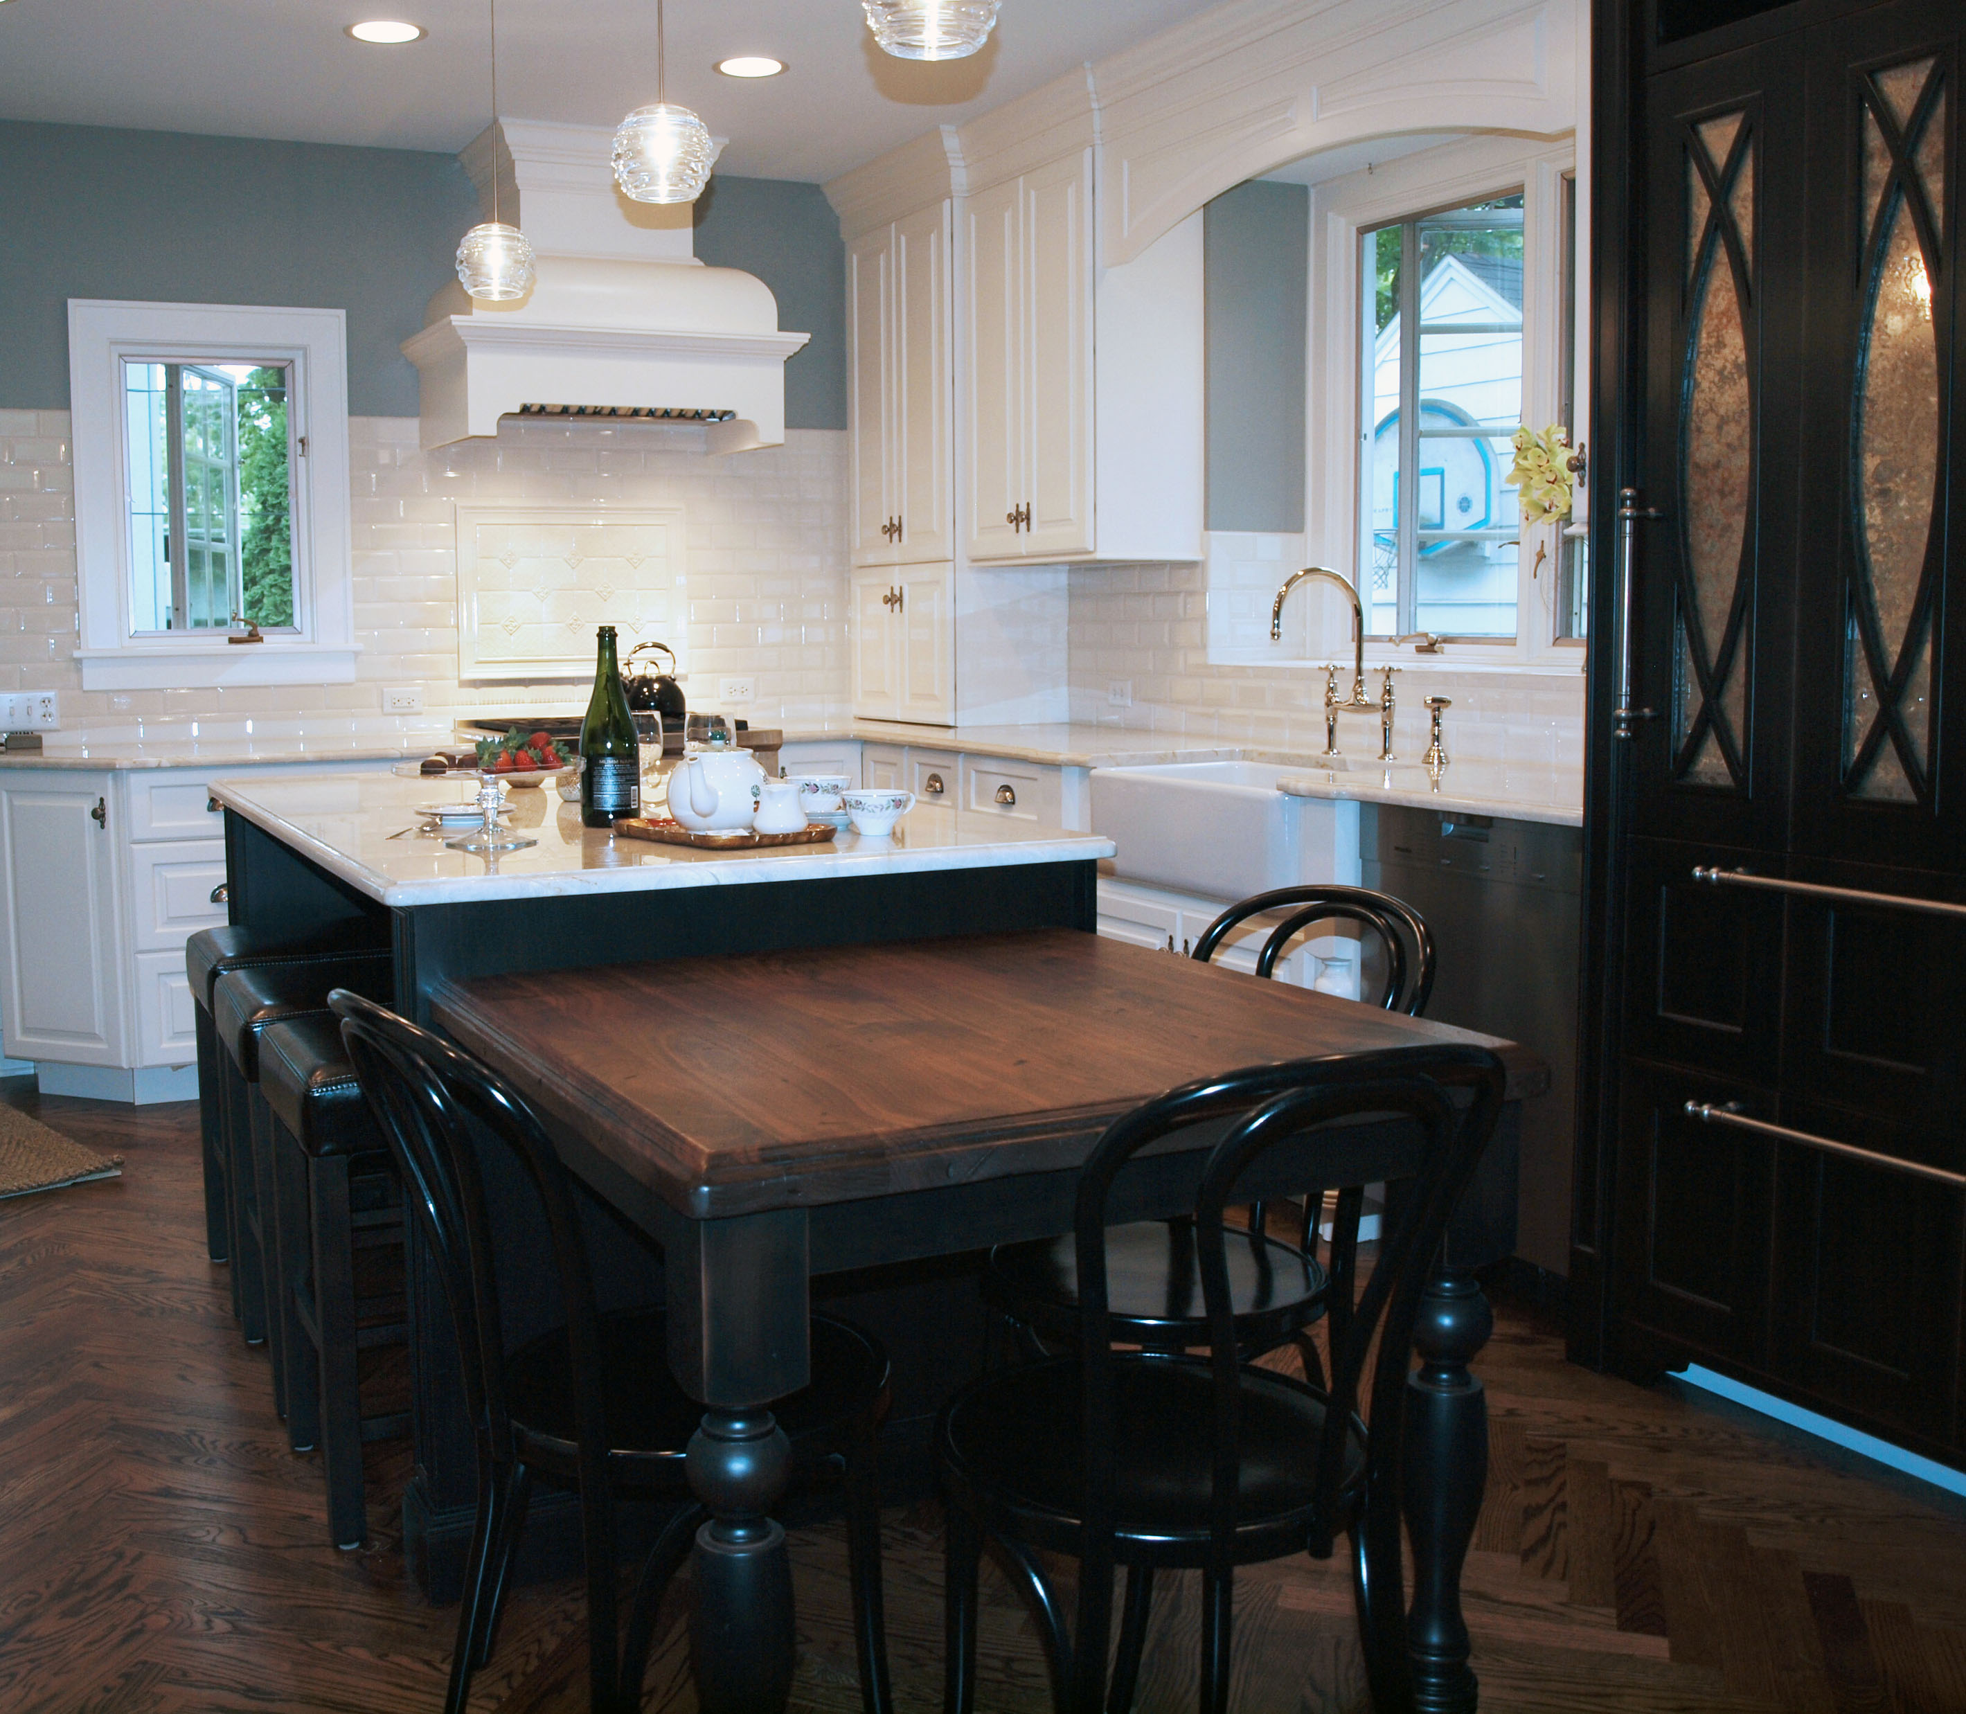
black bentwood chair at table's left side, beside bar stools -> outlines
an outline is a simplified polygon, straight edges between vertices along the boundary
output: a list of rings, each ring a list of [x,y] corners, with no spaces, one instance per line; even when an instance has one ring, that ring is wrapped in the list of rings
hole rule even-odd
[[[708,1517],[690,1498],[684,1457],[702,1405],[668,1372],[661,1309],[602,1313],[574,1185],[533,1111],[490,1067],[346,991],[328,997],[362,1091],[389,1138],[456,1323],[466,1407],[478,1431],[478,1519],[450,1663],[448,1714],[464,1714],[472,1673],[492,1657],[535,1476],[580,1494],[588,1572],[590,1706],[641,1708],[641,1679],[663,1590]],[[543,1219],[562,1325],[507,1348],[517,1307],[501,1301],[492,1207],[529,1197]],[[881,1620],[881,1512],[875,1433],[887,1413],[887,1352],[867,1335],[812,1317],[812,1384],[773,1403],[792,1472],[845,1474],[847,1553],[861,1704],[893,1706]],[[615,1502],[668,1502],[617,1624]]]

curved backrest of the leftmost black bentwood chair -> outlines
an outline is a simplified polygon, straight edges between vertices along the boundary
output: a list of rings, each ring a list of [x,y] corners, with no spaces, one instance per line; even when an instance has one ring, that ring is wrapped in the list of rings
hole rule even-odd
[[[574,1374],[582,1486],[606,1492],[600,1309],[572,1181],[531,1107],[495,1071],[385,1006],[336,989],[328,1006],[405,1201],[431,1244],[458,1333],[466,1407],[497,1462],[513,1458],[507,1317],[493,1195],[525,1187],[550,1234]],[[499,1158],[503,1156],[503,1158]],[[590,1468],[592,1466],[592,1468]]]

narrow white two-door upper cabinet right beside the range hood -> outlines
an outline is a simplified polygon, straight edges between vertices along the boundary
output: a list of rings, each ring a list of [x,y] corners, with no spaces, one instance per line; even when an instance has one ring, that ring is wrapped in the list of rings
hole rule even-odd
[[[955,554],[952,222],[944,199],[847,248],[855,566]]]

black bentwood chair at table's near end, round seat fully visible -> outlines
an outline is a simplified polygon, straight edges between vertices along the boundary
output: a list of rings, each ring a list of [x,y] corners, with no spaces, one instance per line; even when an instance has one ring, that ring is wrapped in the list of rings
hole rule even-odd
[[[1457,1111],[1449,1085],[1467,1085]],[[1357,1059],[1256,1065],[1189,1083],[1107,1128],[1079,1175],[1073,1240],[1079,1270],[1079,1341],[1070,1356],[997,1370],[959,1392],[936,1423],[936,1462],[948,1498],[948,1685],[944,1706],[975,1700],[977,1561],[989,1537],[1009,1551],[1036,1598],[1066,1714],[1132,1706],[1152,1608],[1154,1572],[1203,1572],[1201,1710],[1225,1714],[1235,1567],[1292,1553],[1327,1559],[1349,1531],[1372,1704],[1414,1706],[1400,1571],[1400,1457],[1406,1441],[1410,1352],[1421,1293],[1441,1232],[1467,1187],[1502,1107],[1502,1063],[1482,1048],[1406,1048]],[[1343,1132],[1307,1136],[1341,1118],[1406,1118],[1419,1130],[1396,1199],[1392,1234],[1359,1299],[1329,1388],[1246,1364],[1237,1352],[1223,1211],[1237,1181],[1268,1150],[1290,1146],[1315,1173],[1319,1154],[1345,1152]],[[1211,1350],[1185,1356],[1107,1344],[1107,1197],[1121,1168],[1168,1132],[1237,1120],[1211,1152],[1195,1199],[1201,1289]],[[1429,1323],[1431,1329],[1431,1323]],[[1357,1415],[1366,1350],[1370,1429]],[[1429,1339],[1429,1350],[1441,1344]],[[1451,1368],[1451,1364],[1447,1364]],[[1429,1372],[1423,1370],[1421,1376]],[[1478,1390],[1461,1372],[1441,1378],[1457,1403]],[[1467,1431],[1467,1423],[1449,1417]],[[1451,1470],[1427,1478],[1449,1519],[1473,1525],[1482,1439],[1465,1433]],[[1465,1517],[1463,1517],[1465,1514]],[[1465,1547],[1416,1543],[1416,1602],[1425,1649],[1447,1673],[1465,1673],[1465,1629],[1453,1610],[1453,1563]],[[1077,1624],[1064,1614],[1038,1553],[1079,1561]],[[1127,1567],[1127,1604],[1107,1696],[1107,1637],[1115,1567]],[[1445,1618],[1445,1624],[1441,1622]],[[1459,1635],[1453,1635],[1459,1633]],[[1429,1665],[1431,1671],[1431,1665]]]

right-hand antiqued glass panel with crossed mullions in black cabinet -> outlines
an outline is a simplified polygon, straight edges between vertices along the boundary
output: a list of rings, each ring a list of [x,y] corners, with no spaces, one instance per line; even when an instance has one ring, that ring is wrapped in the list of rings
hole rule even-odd
[[[1872,218],[1854,401],[1844,786],[1885,802],[1921,802],[1931,780],[1931,562],[1942,425],[1935,257],[1925,246],[1944,197],[1938,77],[1931,59],[1878,73],[1864,112]]]

